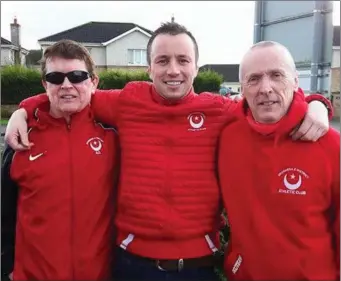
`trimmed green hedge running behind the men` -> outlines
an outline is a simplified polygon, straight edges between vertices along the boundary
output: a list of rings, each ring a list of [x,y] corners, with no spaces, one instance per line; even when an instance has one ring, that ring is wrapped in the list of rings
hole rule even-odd
[[[146,71],[108,70],[99,73],[100,89],[122,89],[130,81],[150,81]],[[211,70],[199,72],[194,80],[194,90],[218,92],[222,75]],[[23,99],[44,92],[40,72],[21,66],[6,66],[1,69],[2,104],[18,104]]]

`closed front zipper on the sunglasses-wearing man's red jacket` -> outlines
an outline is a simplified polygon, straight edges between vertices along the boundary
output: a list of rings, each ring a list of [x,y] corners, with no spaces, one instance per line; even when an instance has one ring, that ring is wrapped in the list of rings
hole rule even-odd
[[[74,252],[74,186],[73,186],[73,171],[72,171],[72,138],[71,138],[71,124],[67,124],[67,131],[68,131],[68,138],[69,138],[69,156],[70,156],[70,188],[71,188],[71,200],[70,200],[70,207],[71,207],[71,226],[70,226],[70,248],[71,248],[71,276],[72,280],[76,280],[75,278],[75,252]]]

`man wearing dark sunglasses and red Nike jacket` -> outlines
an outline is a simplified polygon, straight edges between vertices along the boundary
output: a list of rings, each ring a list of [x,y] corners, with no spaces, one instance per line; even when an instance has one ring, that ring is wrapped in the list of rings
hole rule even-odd
[[[29,121],[35,145],[3,155],[2,278],[14,270],[13,280],[108,280],[118,140],[89,107],[94,63],[62,40],[41,70],[48,100]]]

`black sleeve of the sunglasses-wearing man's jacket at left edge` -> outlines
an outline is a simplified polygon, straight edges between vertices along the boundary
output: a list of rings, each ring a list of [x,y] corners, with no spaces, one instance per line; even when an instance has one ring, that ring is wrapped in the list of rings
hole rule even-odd
[[[6,145],[1,166],[1,275],[8,276],[14,266],[15,227],[18,186],[10,177],[14,150]]]

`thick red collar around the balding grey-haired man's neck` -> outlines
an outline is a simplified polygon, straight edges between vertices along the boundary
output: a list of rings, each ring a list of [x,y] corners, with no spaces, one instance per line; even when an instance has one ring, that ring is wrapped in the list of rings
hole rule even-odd
[[[257,122],[252,114],[251,110],[244,99],[240,103],[239,114],[242,114],[246,118],[248,124],[252,130],[265,136],[273,137],[285,137],[300,124],[303,120],[308,109],[308,104],[305,101],[304,93],[301,89],[298,89],[294,93],[292,103],[287,114],[275,124],[261,124]]]

